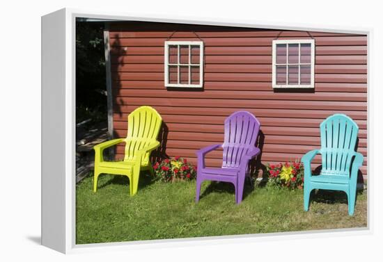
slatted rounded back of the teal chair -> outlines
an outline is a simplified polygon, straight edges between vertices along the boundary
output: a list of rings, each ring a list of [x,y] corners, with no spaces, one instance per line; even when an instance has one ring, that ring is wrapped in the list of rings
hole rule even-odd
[[[359,127],[350,117],[335,114],[320,124],[322,174],[350,175]]]

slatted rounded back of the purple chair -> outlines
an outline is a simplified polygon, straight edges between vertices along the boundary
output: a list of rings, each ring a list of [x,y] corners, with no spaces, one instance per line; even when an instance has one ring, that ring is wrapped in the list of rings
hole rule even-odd
[[[225,120],[222,167],[240,167],[242,156],[256,146],[260,122],[247,111],[237,111]]]

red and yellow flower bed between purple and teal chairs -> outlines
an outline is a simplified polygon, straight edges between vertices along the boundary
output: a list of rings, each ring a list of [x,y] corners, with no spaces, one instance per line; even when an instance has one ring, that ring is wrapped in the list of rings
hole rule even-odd
[[[299,161],[266,166],[269,186],[276,188],[303,188],[304,167]]]

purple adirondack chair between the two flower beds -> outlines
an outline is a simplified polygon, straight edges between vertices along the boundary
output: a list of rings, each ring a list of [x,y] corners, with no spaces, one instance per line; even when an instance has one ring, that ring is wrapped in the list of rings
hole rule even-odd
[[[235,202],[242,202],[244,180],[250,178],[249,161],[260,153],[256,147],[260,122],[247,111],[237,111],[225,120],[225,141],[222,145],[211,145],[196,152],[198,156],[196,202],[199,201],[201,183],[205,180],[233,183]],[[205,167],[205,154],[222,147],[222,167]]]

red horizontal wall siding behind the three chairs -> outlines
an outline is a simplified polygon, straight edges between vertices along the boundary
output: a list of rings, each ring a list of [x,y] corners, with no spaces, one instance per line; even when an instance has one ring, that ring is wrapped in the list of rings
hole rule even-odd
[[[203,90],[166,90],[164,41],[200,40],[197,35],[205,44]],[[272,89],[272,40],[278,35],[315,38],[314,92]],[[262,163],[277,163],[319,147],[320,122],[345,113],[359,125],[358,151],[365,156],[361,172],[366,176],[366,35],[124,22],[112,24],[109,36],[116,136],[126,136],[127,115],[134,108],[153,106],[169,129],[166,154],[196,163],[197,149],[223,141],[224,119],[249,110],[264,134]],[[117,157],[122,154],[123,145]],[[221,154],[209,154],[208,165],[221,165]]]

